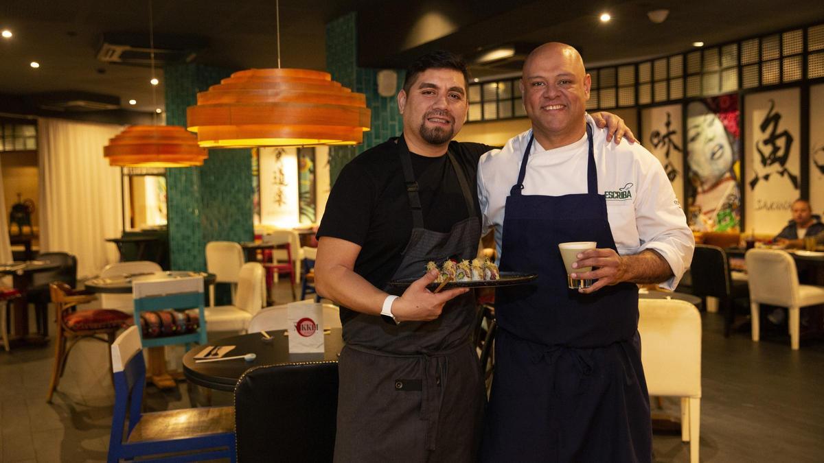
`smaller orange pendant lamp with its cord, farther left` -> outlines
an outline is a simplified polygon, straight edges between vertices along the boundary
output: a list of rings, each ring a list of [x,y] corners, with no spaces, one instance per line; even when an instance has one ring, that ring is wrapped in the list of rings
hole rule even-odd
[[[152,105],[157,107],[154,66],[154,29],[152,0],[149,2],[149,54],[152,60]],[[190,167],[203,166],[208,152],[198,146],[197,138],[179,125],[157,125],[159,110],[152,113],[152,125],[132,125],[103,147],[110,166]]]

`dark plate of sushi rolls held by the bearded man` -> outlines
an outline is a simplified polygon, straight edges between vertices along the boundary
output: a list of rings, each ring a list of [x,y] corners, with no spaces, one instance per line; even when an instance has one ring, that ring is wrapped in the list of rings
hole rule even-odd
[[[495,265],[489,259],[462,260],[461,262],[447,260],[440,266],[430,261],[426,264],[425,271],[428,272],[429,270],[438,270],[438,279],[428,285],[427,288],[429,289],[511,286],[528,283],[538,277],[538,274],[500,272],[498,265]],[[389,284],[391,286],[409,286],[418,278],[392,280]]]

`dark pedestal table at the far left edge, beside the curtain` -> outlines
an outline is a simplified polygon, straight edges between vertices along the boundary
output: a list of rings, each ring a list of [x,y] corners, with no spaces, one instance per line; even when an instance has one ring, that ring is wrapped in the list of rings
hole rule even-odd
[[[34,275],[48,270],[59,268],[60,264],[46,260],[24,260],[0,264],[0,274],[12,276],[12,286],[21,292],[24,297],[17,297],[13,301],[14,331],[9,337],[12,347],[23,345],[43,345],[49,342],[44,334],[29,333],[29,307],[26,302],[26,291],[31,287]]]

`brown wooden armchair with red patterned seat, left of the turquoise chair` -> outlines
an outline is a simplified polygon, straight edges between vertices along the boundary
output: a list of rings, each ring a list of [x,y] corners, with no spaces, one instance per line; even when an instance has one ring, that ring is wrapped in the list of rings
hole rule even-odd
[[[66,283],[49,283],[51,301],[57,306],[57,334],[54,339],[54,367],[46,402],[51,402],[54,390],[66,369],[68,353],[83,338],[97,339],[106,344],[115,341],[115,334],[129,325],[129,314],[112,309],[77,311],[77,306],[96,300],[87,292],[76,292]],[[104,337],[100,337],[100,336]]]

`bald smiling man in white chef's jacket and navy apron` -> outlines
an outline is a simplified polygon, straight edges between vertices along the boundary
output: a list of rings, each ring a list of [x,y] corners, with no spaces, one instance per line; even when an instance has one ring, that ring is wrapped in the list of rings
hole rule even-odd
[[[585,114],[578,51],[541,45],[521,88],[532,129],[480,158],[478,190],[501,270],[538,278],[496,294],[482,460],[651,461],[634,283],[675,288],[695,241],[661,163],[637,143],[605,143]],[[571,278],[568,241],[597,243]]]

